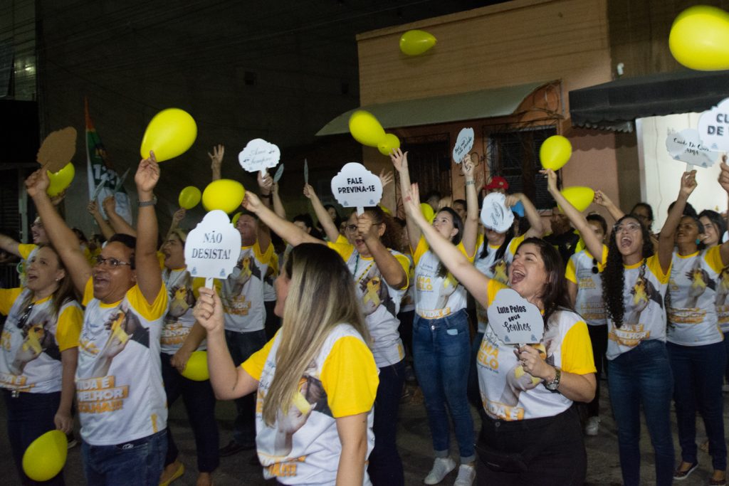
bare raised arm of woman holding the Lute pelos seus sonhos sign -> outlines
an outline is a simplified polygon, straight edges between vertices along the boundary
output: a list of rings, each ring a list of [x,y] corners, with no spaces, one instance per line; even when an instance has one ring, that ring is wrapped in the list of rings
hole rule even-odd
[[[438,256],[441,262],[448,268],[456,280],[463,283],[464,287],[472,296],[480,302],[483,307],[488,307],[488,294],[486,287],[491,280],[483,273],[476,270],[471,262],[461,251],[453,246],[453,243],[443,238],[439,232],[430,224],[420,211],[420,195],[418,184],[413,184],[408,192],[405,192],[405,211],[408,213],[408,220],[412,219],[418,230],[428,241],[430,249]]]

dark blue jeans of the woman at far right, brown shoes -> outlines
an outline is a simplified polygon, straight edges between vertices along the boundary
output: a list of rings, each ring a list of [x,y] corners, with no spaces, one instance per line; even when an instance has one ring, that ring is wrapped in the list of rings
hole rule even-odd
[[[717,369],[724,369],[726,350],[723,342],[703,346],[666,344],[671,369],[674,372],[674,400],[679,428],[681,458],[695,463],[696,410],[701,412],[709,454],[714,469],[727,469],[727,446],[724,439],[724,377]]]

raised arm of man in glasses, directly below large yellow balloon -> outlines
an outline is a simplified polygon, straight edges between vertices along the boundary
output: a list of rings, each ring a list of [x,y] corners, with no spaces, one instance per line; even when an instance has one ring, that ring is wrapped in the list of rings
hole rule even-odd
[[[160,262],[157,260],[157,213],[152,192],[160,180],[160,165],[157,164],[154,152],[149,152],[149,158],[139,162],[134,182],[139,194],[139,216],[137,217],[136,249],[134,260],[136,262],[136,281],[144,298],[152,304],[162,288],[162,273]],[[150,203],[150,204],[147,204]]]

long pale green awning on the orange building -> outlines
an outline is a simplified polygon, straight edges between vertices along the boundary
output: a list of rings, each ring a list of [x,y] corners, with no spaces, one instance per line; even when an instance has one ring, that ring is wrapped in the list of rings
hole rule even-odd
[[[383,128],[415,127],[433,123],[458,122],[464,119],[504,117],[514,113],[524,98],[548,82],[499,87],[456,95],[433,96],[415,100],[393,101],[351,109],[324,125],[317,136],[348,133],[349,117],[354,111],[370,111]]]

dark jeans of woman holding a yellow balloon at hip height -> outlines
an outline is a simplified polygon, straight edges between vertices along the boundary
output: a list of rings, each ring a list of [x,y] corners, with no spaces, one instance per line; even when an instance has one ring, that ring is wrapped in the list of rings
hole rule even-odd
[[[198,454],[198,471],[212,472],[220,464],[218,423],[215,420],[215,394],[210,380],[188,380],[179,374],[170,364],[172,355],[161,353],[162,379],[165,382],[167,407],[182,395],[184,408],[187,410],[192,434],[195,435],[195,450]],[[167,429],[167,457],[165,466],[177,459],[179,450],[172,438],[172,431]]]

